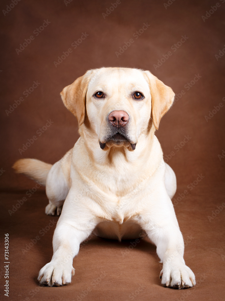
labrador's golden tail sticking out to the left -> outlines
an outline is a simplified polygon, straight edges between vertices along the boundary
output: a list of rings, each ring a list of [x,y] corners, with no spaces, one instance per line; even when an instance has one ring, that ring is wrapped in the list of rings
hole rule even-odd
[[[42,185],[46,185],[46,178],[51,167],[52,164],[37,159],[19,159],[13,165],[16,173],[22,173]]]

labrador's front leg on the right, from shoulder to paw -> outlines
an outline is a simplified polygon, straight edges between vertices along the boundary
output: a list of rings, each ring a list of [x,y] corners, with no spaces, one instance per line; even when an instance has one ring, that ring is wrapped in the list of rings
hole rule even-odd
[[[157,254],[163,262],[162,284],[179,289],[192,287],[196,284],[195,276],[184,262],[184,240],[169,196],[164,196],[158,205],[160,211],[152,207],[151,213],[145,213],[141,220],[142,228],[156,245]]]

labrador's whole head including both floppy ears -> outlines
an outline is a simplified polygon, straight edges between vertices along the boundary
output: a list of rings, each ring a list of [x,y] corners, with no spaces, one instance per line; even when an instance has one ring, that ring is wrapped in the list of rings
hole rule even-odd
[[[174,92],[149,71],[100,68],[65,87],[61,97],[79,126],[96,136],[101,149],[125,146],[132,151],[141,135],[152,126],[158,129]]]

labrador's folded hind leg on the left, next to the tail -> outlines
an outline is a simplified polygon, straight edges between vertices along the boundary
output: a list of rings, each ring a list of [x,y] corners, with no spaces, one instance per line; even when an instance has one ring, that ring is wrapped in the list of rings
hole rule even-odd
[[[52,165],[46,179],[46,195],[49,204],[45,208],[48,215],[60,215],[64,200],[70,189],[70,163],[72,149]]]

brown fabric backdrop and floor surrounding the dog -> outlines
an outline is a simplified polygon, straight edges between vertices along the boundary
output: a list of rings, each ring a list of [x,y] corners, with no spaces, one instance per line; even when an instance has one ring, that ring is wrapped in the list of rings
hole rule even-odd
[[[223,2],[113,0],[113,7],[100,0],[1,1],[2,300],[225,299]],[[150,70],[176,93],[156,135],[177,176],[173,203],[184,259],[197,282],[188,290],[161,286],[162,264],[148,241],[135,246],[94,236],[73,261],[70,285],[38,285],[38,272],[52,256],[58,218],[44,214],[44,188],[15,175],[11,166],[26,157],[54,163],[73,147],[77,122],[59,93],[86,70],[102,66]]]

